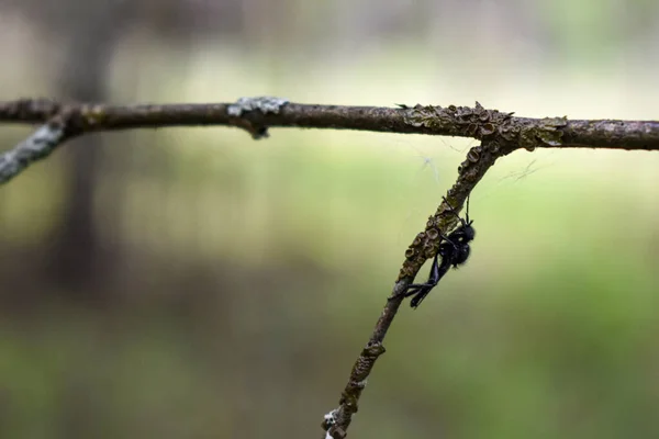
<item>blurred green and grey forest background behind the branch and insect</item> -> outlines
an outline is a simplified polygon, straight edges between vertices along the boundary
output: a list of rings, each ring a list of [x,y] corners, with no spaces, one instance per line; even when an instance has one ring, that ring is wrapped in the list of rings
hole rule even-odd
[[[652,0],[0,0],[0,59],[3,100],[659,119]],[[0,150],[31,130],[1,126]],[[320,436],[472,145],[67,144],[0,188],[0,437]],[[656,153],[502,159],[471,199],[471,259],[401,309],[350,436],[659,437],[658,170]]]

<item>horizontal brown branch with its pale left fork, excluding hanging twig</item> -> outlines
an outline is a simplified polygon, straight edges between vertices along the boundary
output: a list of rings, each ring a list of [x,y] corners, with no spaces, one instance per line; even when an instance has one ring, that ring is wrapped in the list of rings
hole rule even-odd
[[[473,121],[474,114],[498,115],[490,124]],[[381,108],[308,105],[280,98],[242,98],[235,103],[108,105],[58,103],[45,99],[0,102],[0,123],[62,124],[64,136],[48,148],[23,148],[22,166],[0,169],[0,183],[15,177],[32,161],[47,157],[67,139],[92,132],[174,126],[235,126],[254,138],[267,136],[267,128],[302,127],[359,130],[387,133],[498,138],[507,148],[591,147],[659,150],[659,122],[568,121],[567,117],[514,117],[513,113],[474,108],[422,106]],[[22,143],[21,145],[24,145]],[[13,151],[16,154],[20,145]],[[0,164],[11,157],[0,158]]]

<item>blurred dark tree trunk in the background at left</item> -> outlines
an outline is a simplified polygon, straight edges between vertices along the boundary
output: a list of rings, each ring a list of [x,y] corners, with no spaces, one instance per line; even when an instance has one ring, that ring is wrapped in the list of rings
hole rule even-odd
[[[123,27],[122,2],[58,3],[68,13],[60,10],[60,20],[46,23],[54,24],[64,41],[59,48],[63,63],[56,74],[57,94],[67,100],[107,102],[107,74]],[[103,293],[98,286],[104,246],[94,223],[94,195],[103,155],[100,142],[99,136],[81,138],[63,151],[67,160],[64,209],[56,218],[45,255],[47,279],[57,285],[63,297],[76,302],[97,302]]]

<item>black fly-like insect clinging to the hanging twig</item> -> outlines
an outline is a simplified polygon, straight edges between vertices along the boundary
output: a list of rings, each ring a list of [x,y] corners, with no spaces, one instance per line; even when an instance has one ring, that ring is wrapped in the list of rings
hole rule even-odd
[[[450,212],[458,217],[460,225],[448,234],[448,236],[442,235],[443,241],[439,243],[439,249],[437,250],[437,255],[435,255],[435,259],[433,259],[433,267],[431,268],[431,275],[427,282],[413,283],[407,286],[405,297],[413,296],[410,302],[410,306],[413,308],[421,305],[421,302],[439,283],[444,274],[451,267],[458,268],[458,266],[467,261],[470,250],[469,243],[476,236],[476,230],[471,226],[473,221],[469,219],[469,199],[467,199],[467,214],[465,219],[458,215],[458,212],[450,205],[446,198],[444,198],[444,201],[450,209]],[[442,263],[439,263],[438,258],[442,258]]]

